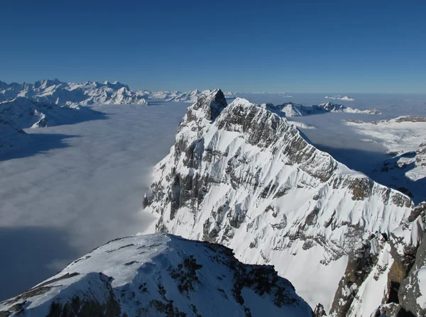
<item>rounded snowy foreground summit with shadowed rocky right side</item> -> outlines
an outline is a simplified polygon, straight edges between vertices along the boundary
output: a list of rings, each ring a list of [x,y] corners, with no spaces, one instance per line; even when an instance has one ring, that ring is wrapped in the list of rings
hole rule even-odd
[[[10,314],[10,315],[9,315]],[[312,316],[271,266],[174,235],[112,240],[0,303],[0,316]]]

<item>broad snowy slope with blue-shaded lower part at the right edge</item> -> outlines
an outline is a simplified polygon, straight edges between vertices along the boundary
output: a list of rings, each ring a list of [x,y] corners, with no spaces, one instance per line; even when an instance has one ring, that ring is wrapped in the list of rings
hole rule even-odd
[[[381,182],[426,200],[426,118],[401,116],[391,120],[346,121],[366,142],[388,148],[388,160],[376,167]],[[366,138],[365,138],[366,137]]]

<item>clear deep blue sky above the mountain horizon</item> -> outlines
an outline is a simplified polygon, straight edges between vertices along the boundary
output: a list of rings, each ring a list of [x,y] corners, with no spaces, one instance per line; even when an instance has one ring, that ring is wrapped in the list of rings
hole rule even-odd
[[[0,80],[426,93],[426,1],[2,1]]]

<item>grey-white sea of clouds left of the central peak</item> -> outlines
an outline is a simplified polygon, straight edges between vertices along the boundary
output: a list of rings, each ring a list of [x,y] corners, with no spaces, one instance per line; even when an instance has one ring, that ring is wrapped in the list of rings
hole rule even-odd
[[[107,118],[26,129],[31,150],[0,157],[0,300],[146,228],[143,193],[187,106],[94,106]]]

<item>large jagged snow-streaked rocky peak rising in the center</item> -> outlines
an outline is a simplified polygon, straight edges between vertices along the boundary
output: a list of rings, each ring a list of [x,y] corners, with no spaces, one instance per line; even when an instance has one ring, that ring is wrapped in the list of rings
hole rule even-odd
[[[227,106],[220,90],[187,109],[152,191],[156,230],[275,265],[332,316],[392,301],[424,231],[408,196],[317,150],[273,106]]]

